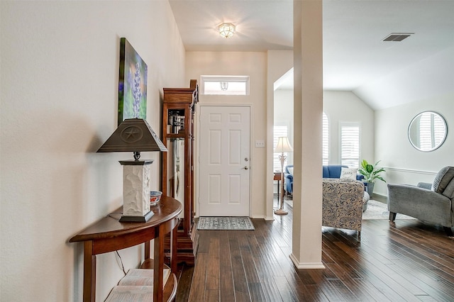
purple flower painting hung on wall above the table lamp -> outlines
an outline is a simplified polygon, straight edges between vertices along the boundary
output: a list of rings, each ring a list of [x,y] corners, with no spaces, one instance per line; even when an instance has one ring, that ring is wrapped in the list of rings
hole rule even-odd
[[[147,116],[147,65],[126,38],[120,38],[118,125]]]

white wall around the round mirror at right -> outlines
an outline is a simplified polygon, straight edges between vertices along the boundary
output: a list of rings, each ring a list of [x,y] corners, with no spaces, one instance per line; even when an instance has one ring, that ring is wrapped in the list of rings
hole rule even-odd
[[[432,182],[445,166],[454,165],[454,93],[375,111],[375,158],[387,169],[384,179],[392,184]],[[444,144],[432,152],[416,150],[409,142],[409,123],[422,111],[440,113],[448,124]],[[374,191],[387,195],[386,184],[378,181]]]

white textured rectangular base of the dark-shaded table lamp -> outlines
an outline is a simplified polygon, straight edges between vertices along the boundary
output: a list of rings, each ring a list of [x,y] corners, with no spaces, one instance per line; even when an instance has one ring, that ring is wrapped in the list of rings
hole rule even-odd
[[[146,222],[150,211],[150,164],[153,160],[124,160],[123,216],[120,222]]]

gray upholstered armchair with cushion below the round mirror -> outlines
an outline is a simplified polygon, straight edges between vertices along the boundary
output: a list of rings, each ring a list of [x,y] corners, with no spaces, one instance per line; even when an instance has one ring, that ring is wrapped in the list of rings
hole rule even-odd
[[[454,227],[454,167],[444,167],[433,184],[417,186],[388,184],[389,220],[401,213],[419,220],[442,225],[448,236]]]

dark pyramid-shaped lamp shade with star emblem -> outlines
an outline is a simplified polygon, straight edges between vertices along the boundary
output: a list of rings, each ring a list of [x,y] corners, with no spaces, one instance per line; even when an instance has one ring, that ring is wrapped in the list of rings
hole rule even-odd
[[[155,131],[142,118],[124,120],[96,152],[167,152]]]

